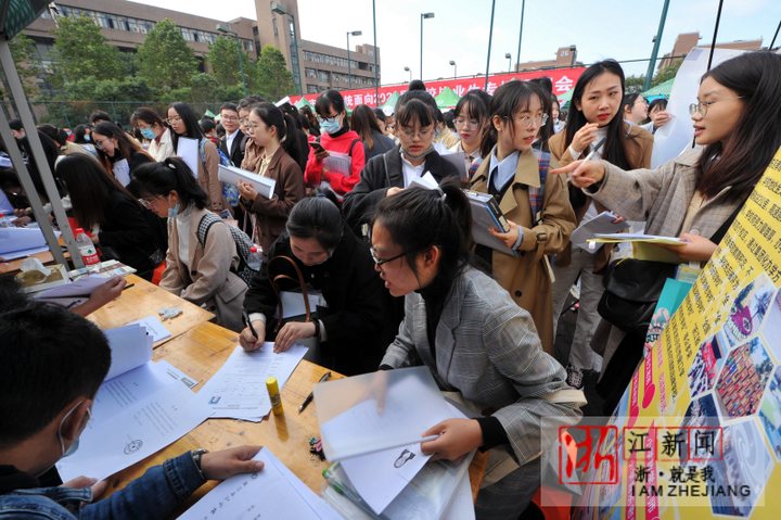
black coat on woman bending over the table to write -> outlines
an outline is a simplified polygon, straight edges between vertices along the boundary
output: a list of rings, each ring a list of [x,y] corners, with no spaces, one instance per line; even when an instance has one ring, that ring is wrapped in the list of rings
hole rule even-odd
[[[306,283],[320,291],[325,300],[328,308],[317,307],[318,318],[328,334],[328,341],[320,344],[322,365],[346,376],[376,370],[393,335],[383,333],[383,302],[387,291],[374,269],[369,246],[345,226],[331,258],[320,265],[307,266],[293,254],[287,231],[280,234],[244,297],[247,314],[263,313],[266,316],[266,341],[272,341],[277,325],[272,318],[277,310],[277,294],[267,276],[269,258],[277,256],[293,259]],[[280,274],[298,280],[295,269],[286,261],[271,264],[271,277]],[[299,287],[297,282],[284,279],[279,280],[279,286],[287,291]],[[394,328],[398,331],[398,321]]]

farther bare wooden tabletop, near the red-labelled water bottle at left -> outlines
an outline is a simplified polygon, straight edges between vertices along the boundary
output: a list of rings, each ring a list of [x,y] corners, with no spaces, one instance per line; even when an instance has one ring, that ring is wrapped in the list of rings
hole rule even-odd
[[[205,308],[193,305],[187,300],[176,296],[154,283],[148,282],[143,278],[139,278],[136,275],[128,275],[126,280],[128,286],[135,283],[135,287],[126,289],[123,291],[121,296],[88,316],[91,321],[103,330],[123,327],[148,316],[155,316],[159,319],[157,310],[164,307],[178,307],[182,309],[182,314],[176,318],[163,321],[163,326],[168,329],[171,335],[170,338],[156,342],[154,345],[158,347],[184,332],[215,319],[215,315]]]

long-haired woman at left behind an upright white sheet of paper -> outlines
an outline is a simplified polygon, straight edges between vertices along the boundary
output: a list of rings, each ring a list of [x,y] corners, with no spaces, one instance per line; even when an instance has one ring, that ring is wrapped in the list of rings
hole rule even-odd
[[[223,211],[231,212],[225,195],[222,194],[222,181],[219,180],[220,156],[215,143],[209,141],[201,132],[197,117],[187,103],[171,103],[168,106],[168,126],[174,131],[171,144],[179,154],[179,139],[187,137],[199,142],[197,172],[193,172],[199,183],[206,190],[208,199],[206,208],[221,214]],[[232,214],[232,213],[231,213]]]

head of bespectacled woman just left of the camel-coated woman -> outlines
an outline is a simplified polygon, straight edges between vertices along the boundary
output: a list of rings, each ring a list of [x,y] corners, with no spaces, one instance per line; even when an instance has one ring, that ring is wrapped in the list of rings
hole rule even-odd
[[[491,97],[483,90],[470,90],[456,104],[453,126],[459,139],[458,144],[449,148],[451,152],[463,152],[466,172],[471,179],[481,163],[481,145],[483,134],[488,124],[488,105]]]

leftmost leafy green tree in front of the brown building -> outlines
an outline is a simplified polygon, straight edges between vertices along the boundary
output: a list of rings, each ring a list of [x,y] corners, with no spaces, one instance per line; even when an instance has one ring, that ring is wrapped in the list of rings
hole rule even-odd
[[[106,43],[107,38],[94,20],[81,16],[61,16],[59,27],[52,29],[52,84],[62,88],[71,81],[94,76],[98,79],[116,78],[121,73],[119,49]]]

